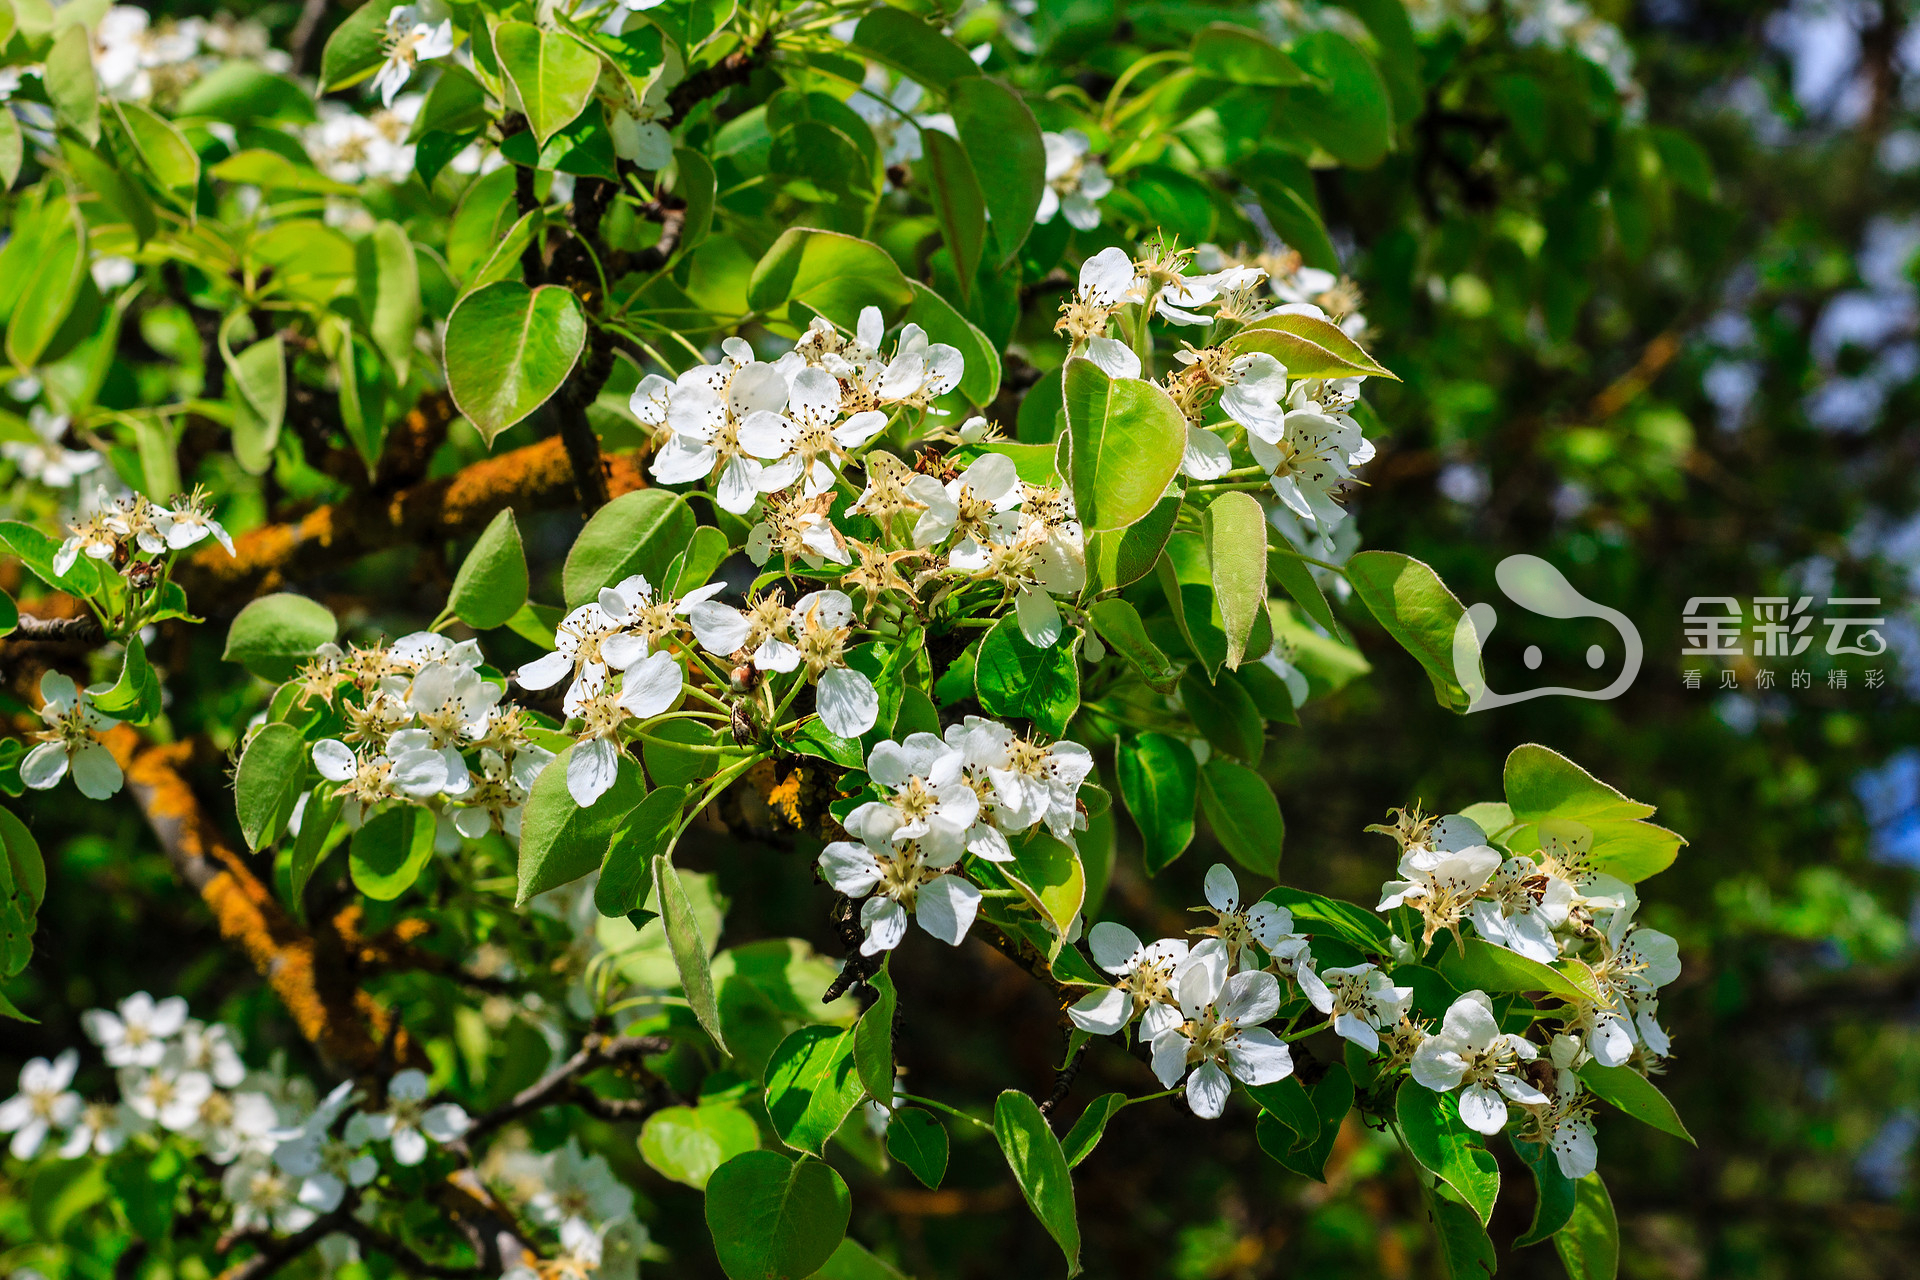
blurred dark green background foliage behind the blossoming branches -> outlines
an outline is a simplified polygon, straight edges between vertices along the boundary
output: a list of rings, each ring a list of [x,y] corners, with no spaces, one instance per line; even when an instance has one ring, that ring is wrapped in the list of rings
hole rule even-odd
[[[1914,1274],[1920,35],[1899,0],[1615,0],[1592,21],[1553,0],[1427,4],[1409,21],[1382,4],[1039,0],[954,19],[962,44],[996,44],[989,69],[1043,94],[1035,109],[1048,129],[1098,113],[1123,67],[1221,17],[1281,38],[1356,35],[1380,67],[1394,121],[1390,150],[1356,144],[1334,167],[1327,155],[1258,154],[1261,109],[1284,107],[1267,94],[1256,109],[1250,96],[1246,113],[1221,111],[1213,132],[1177,144],[1202,165],[1210,148],[1254,146],[1258,159],[1240,165],[1246,192],[1194,198],[1167,165],[1158,184],[1152,173],[1121,175],[1102,230],[1039,228],[1021,278],[983,280],[972,307],[993,338],[1016,344],[1002,416],[1018,415],[1025,434],[1039,413],[1021,413],[1020,397],[1044,395],[1062,359],[1048,330],[1068,284],[1052,269],[1131,228],[1258,248],[1267,230],[1258,211],[1309,263],[1352,276],[1371,349],[1404,378],[1369,384],[1380,457],[1348,503],[1363,545],[1427,558],[1463,601],[1500,599],[1503,555],[1546,557],[1634,620],[1647,660],[1613,702],[1540,699],[1461,718],[1434,704],[1421,670],[1363,610],[1342,608],[1375,670],[1308,708],[1304,731],[1277,729],[1263,771],[1288,827],[1281,877],[1369,898],[1392,858],[1361,827],[1411,800],[1448,812],[1498,798],[1500,764],[1526,741],[1657,804],[1692,842],[1649,887],[1644,917],[1682,942],[1686,971],[1663,1002],[1674,1029],[1663,1086],[1699,1148],[1603,1126],[1620,1274]],[[342,15],[328,8],[324,25]],[[300,12],[263,4],[250,17],[284,38]],[[747,98],[772,88],[749,86]],[[720,119],[689,127],[726,130]],[[1110,138],[1094,144],[1106,150]],[[449,213],[417,186],[396,200],[396,213],[417,221]],[[747,198],[730,211],[741,226],[755,217],[778,226],[789,213]],[[883,238],[899,257],[937,244],[925,223],[900,230],[908,221]],[[156,322],[146,338],[194,359],[190,336],[169,338]],[[476,441],[455,439],[436,470],[455,466],[463,445],[476,453]],[[261,512],[286,497],[261,497]],[[557,574],[574,528],[563,516],[530,526],[536,574],[541,560]],[[432,580],[434,564],[444,576],[440,549],[403,549],[326,585],[374,601],[361,622],[397,633],[380,591]],[[1868,689],[1853,670],[1847,689],[1832,689],[1816,645],[1811,689],[1788,685],[1797,664],[1784,660],[1772,664],[1774,687],[1757,687],[1766,662],[1751,658],[1730,668],[1738,689],[1718,689],[1718,668],[1680,654],[1682,610],[1697,595],[1880,597],[1893,645],[1880,664],[1885,683]],[[209,628],[180,643],[204,651],[213,672],[217,637]],[[1549,656],[1567,683],[1584,676],[1584,643],[1565,647],[1561,635],[1563,652]],[[1490,668],[1496,687],[1526,679],[1517,662]],[[1701,689],[1684,685],[1686,670],[1705,672]],[[242,718],[248,695],[221,679],[177,693],[180,733]],[[182,992],[196,1013],[246,1029],[250,1055],[303,1052],[271,994],[175,887],[136,814],[58,796],[31,808],[54,885],[17,998],[52,1013],[38,1027],[8,1025],[8,1071],[77,1042],[79,1009],[134,988]],[[1123,823],[1110,902],[1167,933],[1185,929],[1169,904],[1198,900],[1210,837],[1160,881],[1140,877],[1133,839]],[[732,898],[730,942],[795,935],[839,954],[803,856],[745,864],[705,848],[699,864]],[[989,1096],[1006,1063],[1018,1063],[1020,1084],[1046,1088],[1060,1044],[1031,1034],[1050,1027],[1052,1009],[1025,975],[973,944],[906,948],[897,971],[922,992],[900,1027],[902,1059],[922,1063],[916,1092]],[[415,1011],[430,1021],[432,986],[407,983],[382,996],[409,1009],[407,1021]],[[524,1075],[516,1063],[538,1069],[545,1048],[516,1046],[532,1034],[520,1023],[474,1034],[488,1032],[505,1046],[482,1079],[503,1096]],[[1077,1096],[1135,1077],[1117,1050],[1098,1046]],[[1392,1140],[1357,1119],[1317,1184],[1265,1159],[1250,1126],[1196,1130],[1171,1105],[1137,1115],[1081,1167],[1089,1274],[1440,1274]],[[651,1201],[641,1217],[674,1259],[660,1270],[718,1274],[697,1194],[632,1153],[622,1173]],[[79,1176],[0,1188],[0,1236],[108,1232],[90,1211],[109,1194]],[[860,1192],[856,1205],[854,1234],[920,1276],[1058,1265],[991,1144],[960,1140],[941,1192]],[[1505,1251],[1523,1226],[1496,1217],[1501,1274],[1559,1274],[1548,1247]],[[111,1257],[102,1245],[88,1274],[111,1274]]]

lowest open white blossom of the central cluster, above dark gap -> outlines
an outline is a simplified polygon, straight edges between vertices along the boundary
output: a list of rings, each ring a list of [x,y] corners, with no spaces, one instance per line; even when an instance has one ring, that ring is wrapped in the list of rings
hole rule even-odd
[[[899,946],[908,915],[941,942],[960,946],[979,912],[979,889],[954,871],[962,846],[954,842],[935,850],[927,841],[900,841],[895,821],[893,810],[864,804],[845,823],[854,839],[833,841],[820,850],[820,873],[828,885],[849,898],[872,894],[860,904],[860,927],[866,931],[860,954],[877,956]]]

